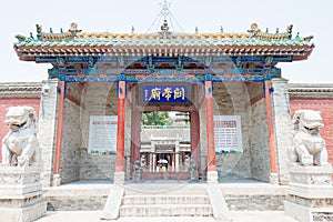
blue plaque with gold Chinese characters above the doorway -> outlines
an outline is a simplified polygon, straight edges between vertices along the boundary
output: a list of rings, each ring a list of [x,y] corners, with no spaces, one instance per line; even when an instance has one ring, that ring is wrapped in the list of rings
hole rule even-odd
[[[186,102],[186,84],[144,84],[142,85],[143,102]]]

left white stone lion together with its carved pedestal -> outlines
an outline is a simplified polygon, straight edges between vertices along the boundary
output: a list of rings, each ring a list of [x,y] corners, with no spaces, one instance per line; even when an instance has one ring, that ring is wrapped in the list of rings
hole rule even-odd
[[[2,140],[0,215],[7,222],[30,222],[47,212],[40,182],[41,160],[36,112],[30,107],[7,110],[9,133]]]

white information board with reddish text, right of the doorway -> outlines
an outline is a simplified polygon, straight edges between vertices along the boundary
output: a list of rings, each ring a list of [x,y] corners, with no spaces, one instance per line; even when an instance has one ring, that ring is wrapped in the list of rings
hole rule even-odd
[[[214,115],[215,152],[243,152],[240,115]]]

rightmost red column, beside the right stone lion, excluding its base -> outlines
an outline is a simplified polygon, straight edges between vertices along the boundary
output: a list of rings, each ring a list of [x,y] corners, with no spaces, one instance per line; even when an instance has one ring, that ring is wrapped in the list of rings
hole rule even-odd
[[[273,123],[273,111],[272,111],[272,95],[270,92],[271,80],[265,80],[265,102],[266,102],[266,115],[269,127],[269,143],[271,153],[271,173],[276,173],[276,152],[275,152],[275,133]]]

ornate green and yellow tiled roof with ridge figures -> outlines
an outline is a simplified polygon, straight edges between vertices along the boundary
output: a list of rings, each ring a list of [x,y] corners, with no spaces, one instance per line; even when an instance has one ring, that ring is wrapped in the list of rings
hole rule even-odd
[[[293,56],[306,59],[314,48],[312,37],[292,38],[292,26],[283,33],[261,32],[256,23],[244,33],[81,32],[75,23],[68,32],[47,33],[37,26],[37,38],[17,36],[14,49],[21,60],[36,57],[75,56]]]

